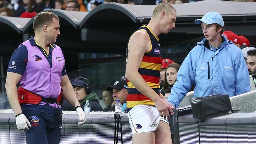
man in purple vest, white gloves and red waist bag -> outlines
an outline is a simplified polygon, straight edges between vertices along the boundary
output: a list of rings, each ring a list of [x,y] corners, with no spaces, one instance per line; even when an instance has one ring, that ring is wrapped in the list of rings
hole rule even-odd
[[[65,70],[65,59],[56,42],[59,18],[41,12],[33,21],[35,37],[13,52],[6,78],[6,93],[15,113],[16,125],[24,129],[27,144],[58,144],[61,127],[61,97],[75,109],[80,122],[85,114]],[[20,87],[17,92],[17,85]]]

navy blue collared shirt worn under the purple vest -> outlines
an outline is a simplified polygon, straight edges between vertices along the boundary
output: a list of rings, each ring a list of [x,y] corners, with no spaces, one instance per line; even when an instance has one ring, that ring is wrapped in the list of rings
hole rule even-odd
[[[31,37],[29,39],[29,41],[33,46],[37,46],[37,48],[39,48],[39,50],[43,53],[43,55],[47,59],[50,67],[52,68],[52,50],[54,50],[54,48],[56,46],[54,44],[50,44],[49,45],[49,54],[47,55],[46,51],[35,42],[33,37]],[[9,62],[9,66],[7,68],[7,72],[14,72],[14,73],[22,75],[26,69],[27,62],[28,62],[28,50],[27,50],[26,46],[21,44],[18,48],[16,48],[14,50],[13,54],[11,55],[11,60]],[[67,72],[66,72],[65,66],[64,66],[62,69],[62,72],[61,72],[61,76],[65,76],[65,75],[67,75]],[[40,112],[44,112],[44,113],[57,113],[57,108],[52,107],[48,104],[40,105],[40,106],[39,105],[33,105],[33,106],[21,105],[21,107],[22,107],[22,111],[30,110],[30,111],[40,111]],[[59,110],[61,112],[61,109],[59,109]]]

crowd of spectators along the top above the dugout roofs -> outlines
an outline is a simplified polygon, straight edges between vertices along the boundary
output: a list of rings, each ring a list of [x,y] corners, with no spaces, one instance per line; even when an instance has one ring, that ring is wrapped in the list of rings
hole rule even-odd
[[[161,2],[182,4],[200,0],[0,0],[0,15],[8,17],[32,18],[47,9],[67,11],[92,11],[95,7],[109,2],[136,5],[157,5]],[[255,2],[255,0],[233,0]]]

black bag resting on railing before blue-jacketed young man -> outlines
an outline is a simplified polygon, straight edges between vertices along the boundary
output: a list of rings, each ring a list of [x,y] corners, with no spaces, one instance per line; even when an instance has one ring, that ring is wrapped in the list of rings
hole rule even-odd
[[[228,95],[212,95],[191,99],[193,118],[202,122],[208,118],[233,113]]]

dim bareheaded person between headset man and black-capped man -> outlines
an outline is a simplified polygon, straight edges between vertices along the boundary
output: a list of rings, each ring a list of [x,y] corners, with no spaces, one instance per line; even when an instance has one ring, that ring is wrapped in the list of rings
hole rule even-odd
[[[104,109],[104,111],[115,111],[115,102],[112,97],[112,92],[110,92],[108,90],[104,90],[102,92],[102,97],[103,97],[103,101],[105,102],[105,104],[107,106]]]

